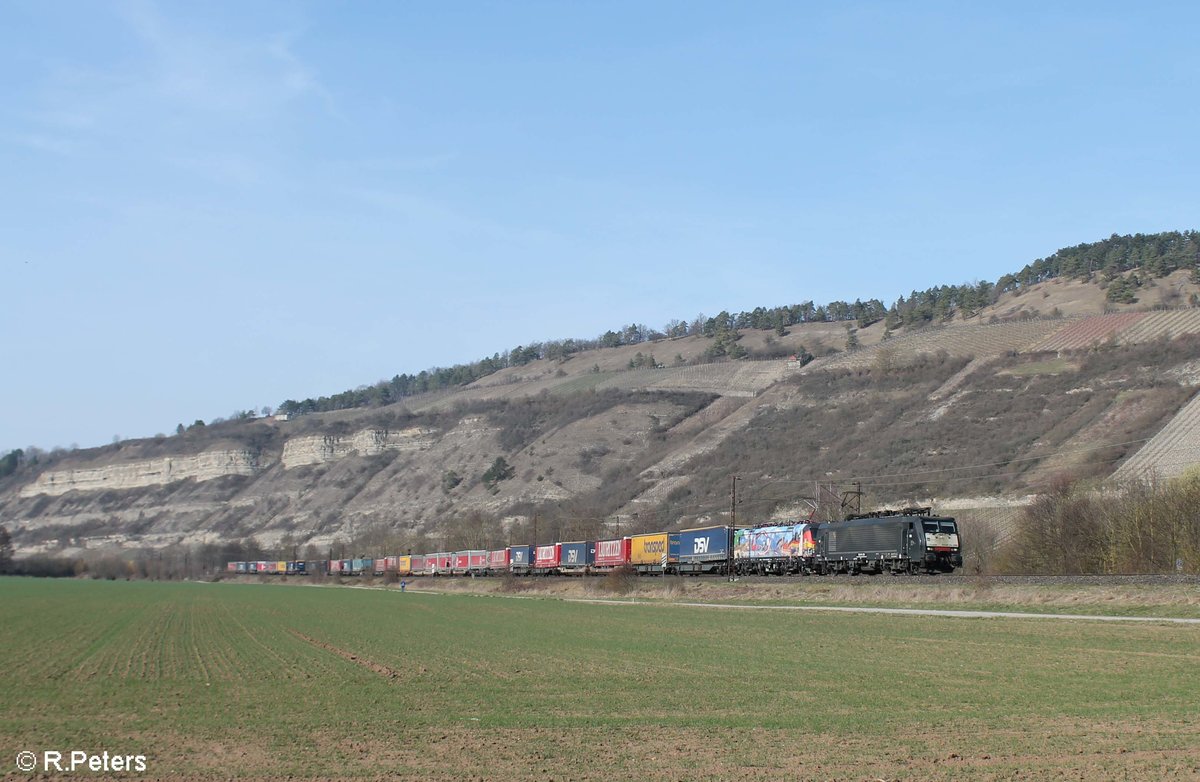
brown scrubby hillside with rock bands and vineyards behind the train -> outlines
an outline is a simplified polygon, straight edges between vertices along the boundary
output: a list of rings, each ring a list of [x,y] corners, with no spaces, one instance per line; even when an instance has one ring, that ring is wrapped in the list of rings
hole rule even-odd
[[[1176,273],[1151,290],[1193,288]],[[43,456],[0,481],[0,523],[18,552],[73,555],[484,546],[533,524],[589,537],[727,519],[734,475],[738,519],[755,522],[856,487],[866,505],[952,503],[1200,461],[1195,308],[1114,306],[1054,279],[944,326],[740,332],[751,355],[782,357],[696,363],[712,343],[589,350],[383,408]],[[804,351],[817,357],[788,357]]]

